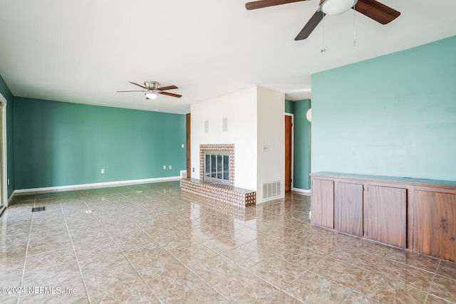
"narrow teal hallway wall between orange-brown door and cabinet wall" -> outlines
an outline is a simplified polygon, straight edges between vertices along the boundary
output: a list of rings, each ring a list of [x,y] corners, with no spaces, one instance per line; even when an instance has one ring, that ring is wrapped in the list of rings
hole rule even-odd
[[[285,100],[285,112],[294,114],[294,166],[293,187],[311,189],[311,123],[306,112],[311,108],[311,100]]]

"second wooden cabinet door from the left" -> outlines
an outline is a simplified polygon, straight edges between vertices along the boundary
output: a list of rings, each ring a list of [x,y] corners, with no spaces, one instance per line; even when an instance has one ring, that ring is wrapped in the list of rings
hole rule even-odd
[[[363,185],[338,182],[334,202],[334,229],[363,236]]]

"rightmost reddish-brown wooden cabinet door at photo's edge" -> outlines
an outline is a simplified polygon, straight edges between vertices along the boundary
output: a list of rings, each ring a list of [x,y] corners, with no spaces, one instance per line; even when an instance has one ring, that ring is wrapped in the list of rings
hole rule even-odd
[[[415,191],[413,251],[456,261],[456,194]]]

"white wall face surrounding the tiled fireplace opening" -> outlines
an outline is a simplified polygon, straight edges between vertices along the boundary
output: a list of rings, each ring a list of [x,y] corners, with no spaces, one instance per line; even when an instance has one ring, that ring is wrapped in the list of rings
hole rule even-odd
[[[199,145],[234,144],[234,186],[257,191],[257,87],[196,103],[191,113],[192,178],[199,179],[202,169]],[[227,131],[222,131],[223,118]],[[204,121],[209,121],[207,133]]]

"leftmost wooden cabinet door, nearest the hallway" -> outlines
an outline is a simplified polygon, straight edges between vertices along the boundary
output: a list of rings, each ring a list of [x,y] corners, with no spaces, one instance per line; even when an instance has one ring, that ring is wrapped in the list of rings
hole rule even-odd
[[[311,216],[312,224],[334,228],[334,182],[312,179]]]

